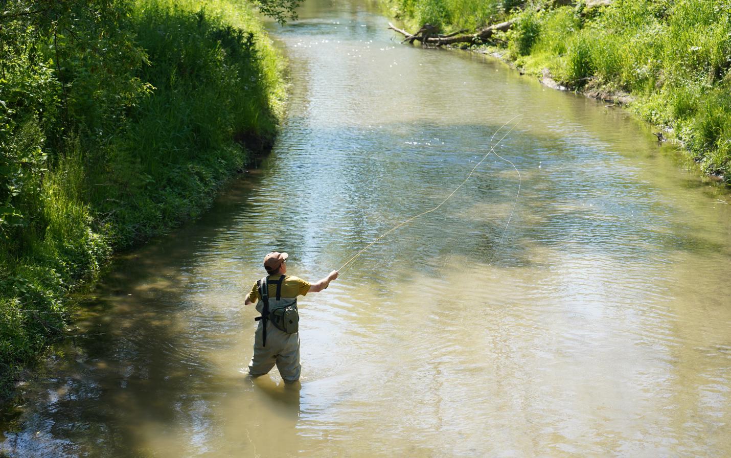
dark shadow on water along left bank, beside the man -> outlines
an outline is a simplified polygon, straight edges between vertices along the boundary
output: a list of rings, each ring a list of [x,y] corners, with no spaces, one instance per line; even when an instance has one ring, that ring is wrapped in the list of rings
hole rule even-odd
[[[211,249],[224,221],[227,229],[235,226],[232,214],[257,179],[232,183],[205,218],[115,261],[94,295],[80,302],[77,331],[58,347],[60,356],[22,386],[15,406],[3,412],[0,453],[137,456],[144,434],[137,425],[174,424],[210,393],[246,389],[243,374],[214,377],[215,364],[202,351],[230,343],[207,341],[205,327],[197,335],[179,320],[186,309],[192,321],[211,313],[195,310],[197,304],[184,297],[201,280],[194,272],[197,253]],[[199,324],[242,324],[240,314],[213,314],[208,324]],[[291,403],[292,396],[285,399]]]

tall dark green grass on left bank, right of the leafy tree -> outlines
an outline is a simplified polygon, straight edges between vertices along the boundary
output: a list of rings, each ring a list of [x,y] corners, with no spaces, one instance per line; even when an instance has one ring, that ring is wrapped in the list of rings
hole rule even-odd
[[[138,3],[135,34],[151,64],[137,77],[155,89],[92,177],[94,209],[110,215],[117,245],[200,214],[221,178],[248,160],[237,140],[270,142],[276,134],[283,98],[276,53],[253,16],[239,12],[233,26],[230,10],[217,6]]]

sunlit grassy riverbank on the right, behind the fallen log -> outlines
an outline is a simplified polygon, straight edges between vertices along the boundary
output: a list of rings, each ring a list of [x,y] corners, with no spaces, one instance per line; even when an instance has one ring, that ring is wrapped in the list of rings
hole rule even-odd
[[[567,4],[569,3],[569,4]],[[530,75],[629,94],[632,110],[731,183],[731,1],[387,0],[417,30],[474,30],[515,20],[493,42]]]

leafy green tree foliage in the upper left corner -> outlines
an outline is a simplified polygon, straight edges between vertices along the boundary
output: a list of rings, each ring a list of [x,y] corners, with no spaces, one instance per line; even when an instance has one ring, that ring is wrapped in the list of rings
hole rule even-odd
[[[0,236],[39,218],[49,167],[79,129],[108,137],[148,86],[121,0],[8,0],[0,15]],[[22,247],[18,247],[22,248]]]

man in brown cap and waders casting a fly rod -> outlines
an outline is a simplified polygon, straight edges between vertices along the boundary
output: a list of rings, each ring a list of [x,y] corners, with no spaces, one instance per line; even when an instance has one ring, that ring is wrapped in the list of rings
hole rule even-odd
[[[254,356],[249,362],[249,375],[265,375],[276,364],[285,382],[300,379],[300,335],[297,312],[297,297],[307,293],[317,293],[327,288],[338,278],[338,271],[317,283],[309,283],[287,273],[287,253],[274,251],[264,257],[266,277],[254,283],[246,295],[244,305],[257,302],[259,321],[254,337]]]

